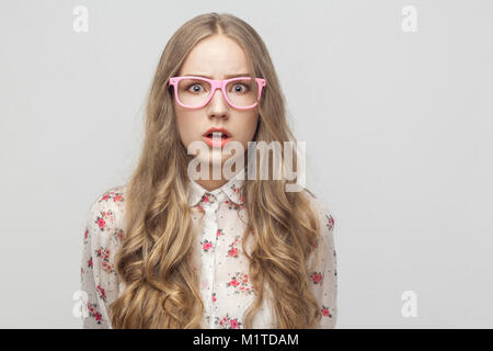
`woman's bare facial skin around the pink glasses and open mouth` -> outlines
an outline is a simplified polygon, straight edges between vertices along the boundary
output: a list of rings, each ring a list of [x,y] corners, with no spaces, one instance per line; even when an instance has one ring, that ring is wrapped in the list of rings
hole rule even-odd
[[[205,76],[209,79],[223,80],[226,76],[244,75],[250,71],[249,60],[240,45],[225,35],[215,35],[200,41],[188,54],[179,76]],[[174,111],[180,138],[188,149],[192,141],[202,141],[209,150],[209,157],[198,156],[206,165],[213,165],[214,160],[225,160],[230,157],[240,157],[234,151],[221,152],[220,148],[211,147],[204,141],[204,133],[211,127],[222,127],[228,131],[231,140],[239,141],[243,150],[248,149],[248,141],[253,139],[259,120],[259,105],[250,110],[231,107],[226,101],[220,89],[217,89],[207,105],[200,109],[190,110],[182,107],[176,100]],[[193,155],[196,155],[194,152]],[[244,154],[242,152],[243,157]]]

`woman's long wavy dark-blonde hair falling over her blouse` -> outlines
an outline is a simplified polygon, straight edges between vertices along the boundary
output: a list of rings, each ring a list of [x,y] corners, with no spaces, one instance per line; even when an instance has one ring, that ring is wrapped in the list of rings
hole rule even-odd
[[[113,328],[203,328],[204,303],[191,259],[195,240],[187,202],[190,158],[167,83],[199,41],[217,34],[234,39],[253,64],[250,73],[267,81],[254,140],[280,141],[283,160],[284,141],[296,143],[286,122],[285,98],[259,34],[231,14],[200,14],[184,23],[168,42],[157,67],[145,112],[141,156],[126,184],[126,236],[115,256],[125,290],[108,308]],[[293,157],[296,169],[296,152]],[[286,183],[290,181],[260,180],[257,172],[241,190],[249,218],[242,247],[256,295],[243,316],[245,328],[252,328],[266,298],[265,286],[273,295],[276,328],[317,328],[320,318],[308,267],[320,238],[320,224],[307,196],[313,194],[307,189],[285,192]],[[248,236],[253,237],[250,254],[244,247]]]

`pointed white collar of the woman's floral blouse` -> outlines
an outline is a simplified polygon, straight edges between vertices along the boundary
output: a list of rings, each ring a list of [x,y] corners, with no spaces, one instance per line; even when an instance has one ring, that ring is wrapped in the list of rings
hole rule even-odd
[[[222,192],[229,197],[232,202],[238,205],[244,204],[244,197],[241,192],[241,188],[244,184],[244,168],[240,170],[233,178],[231,178],[228,182],[222,184],[220,188],[215,189],[213,191],[207,191],[202,188],[197,182],[195,182],[192,178],[188,177],[188,205],[195,206],[205,194],[209,193],[215,195],[216,197]]]

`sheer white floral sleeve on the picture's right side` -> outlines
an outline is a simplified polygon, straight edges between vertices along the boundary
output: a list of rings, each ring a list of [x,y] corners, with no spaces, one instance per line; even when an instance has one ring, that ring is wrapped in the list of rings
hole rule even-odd
[[[337,320],[337,260],[334,245],[334,218],[328,206],[314,201],[321,241],[310,260],[310,286],[319,302],[321,314],[319,329],[334,329]]]

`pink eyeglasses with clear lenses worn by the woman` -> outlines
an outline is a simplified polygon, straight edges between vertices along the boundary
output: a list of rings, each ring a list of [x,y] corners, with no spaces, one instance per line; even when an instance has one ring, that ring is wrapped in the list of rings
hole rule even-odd
[[[255,93],[255,82],[257,92]],[[176,102],[186,109],[204,107],[213,99],[216,89],[222,91],[226,101],[234,109],[248,110],[256,106],[262,88],[267,83],[263,78],[238,77],[226,80],[213,80],[204,77],[172,77],[168,83],[174,87]]]

